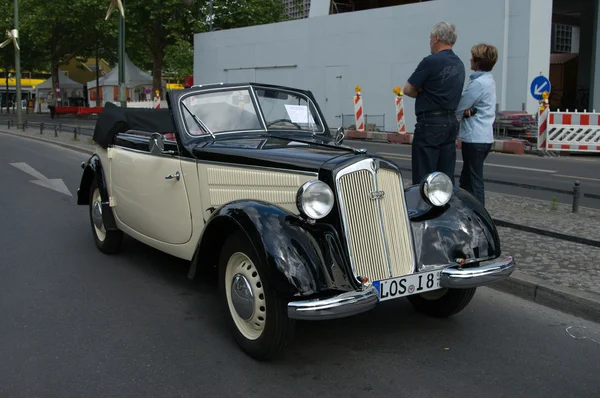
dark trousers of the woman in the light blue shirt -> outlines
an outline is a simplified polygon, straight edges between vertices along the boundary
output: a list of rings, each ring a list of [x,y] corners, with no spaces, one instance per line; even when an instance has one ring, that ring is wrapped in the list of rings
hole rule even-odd
[[[462,143],[463,168],[460,173],[460,187],[470,192],[484,206],[483,161],[491,149],[492,144]]]

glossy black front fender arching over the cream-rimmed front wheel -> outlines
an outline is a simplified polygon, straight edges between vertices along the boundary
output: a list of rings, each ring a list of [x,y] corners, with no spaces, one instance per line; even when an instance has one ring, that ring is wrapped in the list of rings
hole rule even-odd
[[[356,288],[333,227],[311,224],[277,205],[256,200],[231,202],[213,212],[192,259],[191,279],[204,267],[218,265],[222,245],[234,229],[248,237],[266,265],[265,277],[287,297]]]

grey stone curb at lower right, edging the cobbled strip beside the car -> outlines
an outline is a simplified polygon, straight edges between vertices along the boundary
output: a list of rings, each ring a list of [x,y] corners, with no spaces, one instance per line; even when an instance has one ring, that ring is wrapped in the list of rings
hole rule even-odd
[[[507,279],[487,287],[580,318],[600,322],[600,297],[588,292],[558,286],[520,271],[514,271]]]

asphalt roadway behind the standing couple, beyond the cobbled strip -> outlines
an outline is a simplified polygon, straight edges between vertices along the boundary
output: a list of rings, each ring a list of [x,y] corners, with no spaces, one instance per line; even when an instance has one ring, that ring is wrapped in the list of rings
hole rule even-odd
[[[411,147],[368,143],[364,141],[346,141],[347,144],[367,148],[393,160],[407,177],[411,177]],[[456,176],[462,170],[462,153],[457,153]],[[600,156],[563,156],[560,158],[542,158],[533,155],[511,155],[491,153],[485,161],[484,178],[513,185],[486,182],[486,190],[534,199],[572,203],[573,196],[544,190],[524,188],[514,184],[528,184],[545,188],[573,191],[573,183],[581,183],[582,193],[593,194],[598,199],[581,197],[580,205],[600,208]],[[458,177],[456,178],[458,183]]]

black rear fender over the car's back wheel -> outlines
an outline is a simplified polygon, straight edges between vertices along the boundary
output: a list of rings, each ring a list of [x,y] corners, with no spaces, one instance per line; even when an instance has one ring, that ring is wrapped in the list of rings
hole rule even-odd
[[[104,176],[104,168],[102,161],[97,154],[92,155],[87,162],[82,164],[83,175],[77,188],[77,204],[90,204],[90,186],[92,181],[96,179],[98,189],[100,189],[100,197],[102,198],[102,219],[106,230],[116,230],[117,223],[109,204],[108,188],[106,178]]]

